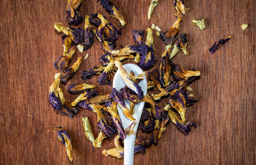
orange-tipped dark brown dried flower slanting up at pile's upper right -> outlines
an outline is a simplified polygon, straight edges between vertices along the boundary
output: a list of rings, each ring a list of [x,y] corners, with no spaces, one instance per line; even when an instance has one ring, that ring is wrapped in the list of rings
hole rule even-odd
[[[159,32],[159,38],[164,42],[164,44],[169,44],[178,35],[180,21],[182,21],[182,17],[178,17],[178,19],[174,22],[173,26],[168,31],[164,33]]]

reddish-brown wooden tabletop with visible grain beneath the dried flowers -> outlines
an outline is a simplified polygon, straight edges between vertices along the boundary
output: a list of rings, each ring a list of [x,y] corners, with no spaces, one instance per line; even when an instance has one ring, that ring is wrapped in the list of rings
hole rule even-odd
[[[161,0],[148,21],[150,1],[113,1],[122,11],[127,26],[118,38],[118,48],[132,42],[131,29],[146,29],[155,23],[166,30],[175,22],[173,1]],[[0,10],[0,164],[70,164],[65,147],[49,132],[62,126],[72,138],[74,164],[123,164],[123,159],[104,157],[102,150],[113,148],[113,139],[102,148],[93,149],[84,136],[82,116],[88,116],[97,134],[96,116],[82,109],[73,119],[56,114],[48,102],[49,86],[56,70],[52,63],[61,56],[61,38],[53,25],[67,25],[67,1],[1,1]],[[135,155],[134,164],[255,164],[256,97],[255,97],[255,0],[249,1],[185,1],[191,8],[180,24],[180,33],[188,34],[188,57],[181,52],[174,63],[195,68],[202,77],[191,85],[200,102],[187,110],[187,118],[196,123],[188,136],[170,123],[157,146],[145,155]],[[84,1],[81,13],[100,12],[111,18],[95,0]],[[192,19],[205,19],[206,29],[200,31]],[[248,23],[243,31],[240,26]],[[81,25],[83,27],[83,24]],[[232,35],[215,54],[208,51],[212,43]],[[95,39],[96,40],[96,39]],[[164,50],[154,35],[157,65]],[[79,73],[68,83],[83,83],[81,70],[100,64],[103,54],[96,40]],[[96,83],[94,77],[88,83]],[[74,100],[76,95],[65,97]],[[109,86],[98,86],[109,93]]]

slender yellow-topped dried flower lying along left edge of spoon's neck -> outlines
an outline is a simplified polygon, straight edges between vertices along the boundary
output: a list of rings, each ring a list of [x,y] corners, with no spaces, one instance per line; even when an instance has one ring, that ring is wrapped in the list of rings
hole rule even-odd
[[[112,102],[111,106],[108,107],[109,113],[112,115],[113,122],[115,124],[116,129],[119,132],[120,138],[124,140],[126,138],[124,127],[122,125],[122,122],[120,120],[120,116],[117,112],[116,102]]]

